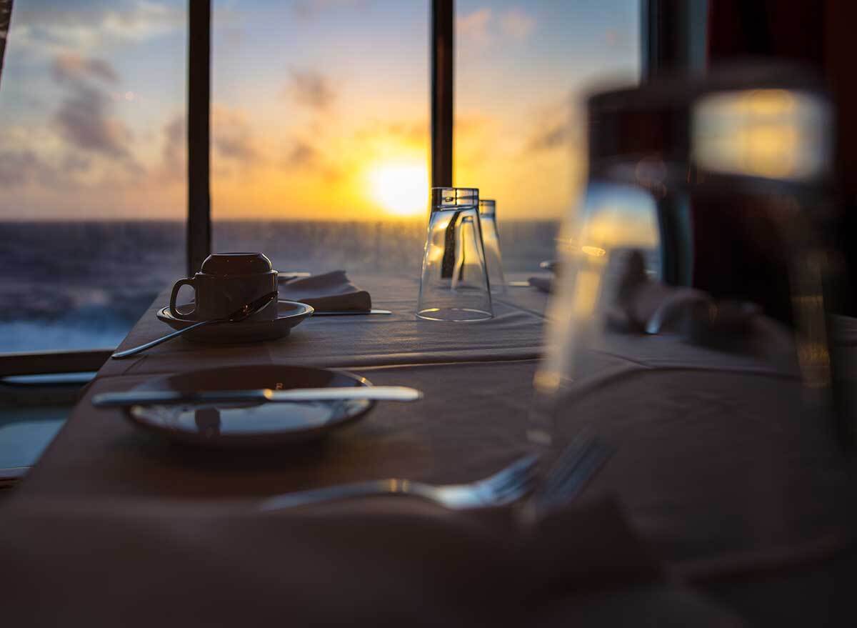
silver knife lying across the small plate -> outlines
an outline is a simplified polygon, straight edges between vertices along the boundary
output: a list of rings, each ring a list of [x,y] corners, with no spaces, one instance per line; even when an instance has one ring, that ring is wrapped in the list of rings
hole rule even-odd
[[[327,402],[366,399],[379,402],[416,402],[423,392],[407,386],[339,386],[329,388],[296,388],[272,390],[201,390],[181,392],[179,390],[129,390],[109,392],[93,396],[93,406],[116,408],[123,406],[191,405],[201,403],[235,402]]]

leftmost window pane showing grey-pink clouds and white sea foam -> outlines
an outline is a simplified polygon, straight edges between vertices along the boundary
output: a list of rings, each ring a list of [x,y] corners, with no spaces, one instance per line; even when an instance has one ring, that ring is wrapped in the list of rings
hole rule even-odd
[[[15,0],[0,351],[112,347],[183,274],[183,0]]]

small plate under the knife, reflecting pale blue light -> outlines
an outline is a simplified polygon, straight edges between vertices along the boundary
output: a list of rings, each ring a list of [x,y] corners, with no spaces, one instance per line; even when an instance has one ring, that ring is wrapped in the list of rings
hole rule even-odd
[[[371,386],[345,371],[306,366],[225,366],[156,377],[135,390],[297,389]],[[306,442],[369,412],[369,400],[282,403],[218,403],[188,406],[131,406],[126,416],[136,426],[185,444],[217,448],[266,447]]]

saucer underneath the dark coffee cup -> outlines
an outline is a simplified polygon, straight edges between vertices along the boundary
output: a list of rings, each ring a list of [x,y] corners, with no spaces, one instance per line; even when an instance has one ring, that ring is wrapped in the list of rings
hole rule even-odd
[[[182,307],[179,305],[179,307]],[[275,340],[289,335],[291,328],[301,323],[304,318],[311,317],[313,308],[297,301],[278,301],[278,316],[273,321],[241,321],[239,323],[217,323],[193,329],[183,338],[195,342],[210,342],[213,344],[230,344],[233,342],[255,342]],[[170,325],[172,329],[184,329],[199,323],[192,318],[174,317],[169,307],[158,311],[159,320]],[[256,386],[255,388],[259,388]]]

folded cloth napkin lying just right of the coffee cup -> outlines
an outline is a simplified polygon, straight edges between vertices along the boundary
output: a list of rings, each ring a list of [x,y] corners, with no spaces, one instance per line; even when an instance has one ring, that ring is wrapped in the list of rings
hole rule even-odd
[[[299,301],[312,305],[318,311],[369,311],[372,298],[349,281],[345,270],[334,270],[322,275],[312,275],[279,281],[279,299]]]

